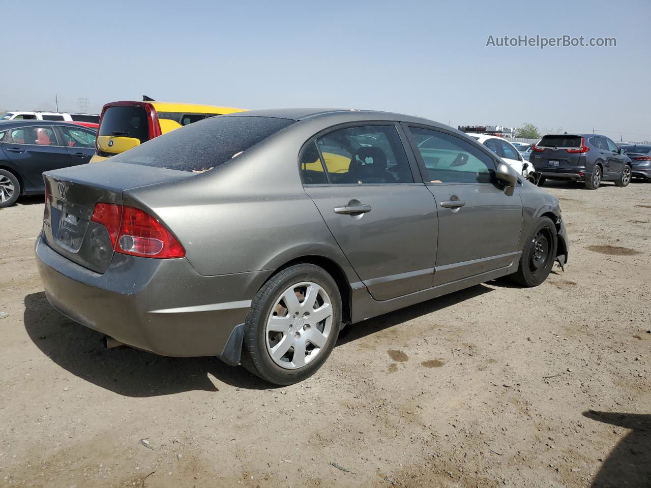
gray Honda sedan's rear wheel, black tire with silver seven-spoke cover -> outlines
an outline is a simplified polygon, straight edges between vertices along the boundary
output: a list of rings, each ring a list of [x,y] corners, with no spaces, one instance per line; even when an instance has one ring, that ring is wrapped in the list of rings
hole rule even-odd
[[[323,268],[296,264],[279,271],[251,303],[242,365],[274,385],[303,381],[335,347],[341,313],[339,288]]]

